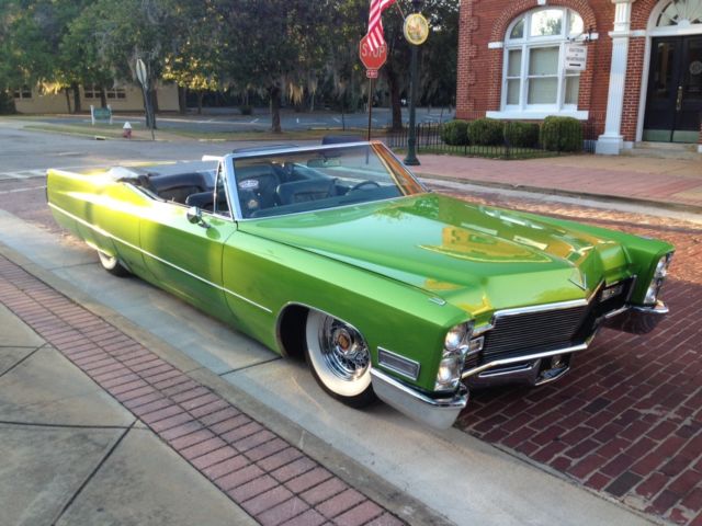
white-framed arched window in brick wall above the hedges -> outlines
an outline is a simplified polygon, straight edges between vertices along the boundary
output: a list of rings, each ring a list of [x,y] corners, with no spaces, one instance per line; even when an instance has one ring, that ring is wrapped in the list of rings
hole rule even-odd
[[[568,113],[578,106],[580,72],[566,70],[565,44],[582,39],[580,15],[564,8],[530,11],[505,39],[502,111]]]

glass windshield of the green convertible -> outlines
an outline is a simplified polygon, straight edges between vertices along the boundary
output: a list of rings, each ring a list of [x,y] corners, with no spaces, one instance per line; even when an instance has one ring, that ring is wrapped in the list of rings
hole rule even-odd
[[[336,208],[426,192],[380,142],[234,159],[241,217]]]

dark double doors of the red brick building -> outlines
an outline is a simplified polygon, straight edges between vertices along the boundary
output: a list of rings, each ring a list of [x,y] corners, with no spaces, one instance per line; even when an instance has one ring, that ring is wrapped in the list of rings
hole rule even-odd
[[[702,35],[652,42],[644,140],[698,142],[702,115]]]

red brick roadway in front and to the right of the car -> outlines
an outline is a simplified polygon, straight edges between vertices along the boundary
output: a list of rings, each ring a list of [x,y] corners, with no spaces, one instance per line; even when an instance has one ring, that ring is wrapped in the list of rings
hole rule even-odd
[[[497,195],[488,203],[672,242],[671,313],[648,335],[603,330],[555,384],[474,392],[457,426],[633,508],[702,525],[702,226]]]

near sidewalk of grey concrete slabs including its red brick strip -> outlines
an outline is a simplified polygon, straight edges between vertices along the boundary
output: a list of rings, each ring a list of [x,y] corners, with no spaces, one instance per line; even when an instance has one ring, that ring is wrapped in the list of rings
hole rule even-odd
[[[145,345],[0,255],[1,524],[404,524]]]

